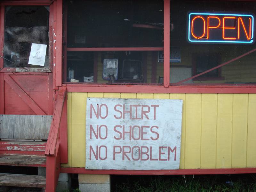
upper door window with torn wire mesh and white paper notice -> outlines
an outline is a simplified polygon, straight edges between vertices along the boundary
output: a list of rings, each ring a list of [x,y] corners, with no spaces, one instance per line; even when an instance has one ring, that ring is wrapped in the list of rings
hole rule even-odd
[[[6,6],[4,67],[51,68],[49,6]]]

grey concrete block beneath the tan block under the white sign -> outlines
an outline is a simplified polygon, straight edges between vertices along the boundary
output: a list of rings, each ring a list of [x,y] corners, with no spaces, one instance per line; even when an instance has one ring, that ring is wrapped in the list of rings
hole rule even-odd
[[[108,184],[79,183],[79,190],[81,192],[110,192],[110,183]]]

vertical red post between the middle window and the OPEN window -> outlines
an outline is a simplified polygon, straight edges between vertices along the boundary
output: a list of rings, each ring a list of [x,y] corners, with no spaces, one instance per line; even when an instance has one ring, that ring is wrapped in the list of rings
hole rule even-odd
[[[164,0],[164,87],[170,85],[170,0]]]

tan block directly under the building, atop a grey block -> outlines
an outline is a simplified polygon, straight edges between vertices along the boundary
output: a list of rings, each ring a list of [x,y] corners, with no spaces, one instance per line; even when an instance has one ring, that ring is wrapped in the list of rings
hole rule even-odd
[[[78,181],[79,184],[109,184],[110,175],[78,174]]]

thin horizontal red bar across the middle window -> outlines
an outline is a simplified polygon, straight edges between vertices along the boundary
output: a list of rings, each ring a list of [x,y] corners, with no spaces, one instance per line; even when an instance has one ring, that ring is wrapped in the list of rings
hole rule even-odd
[[[68,47],[67,51],[163,51],[163,47]]]

